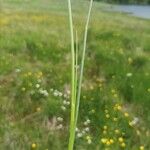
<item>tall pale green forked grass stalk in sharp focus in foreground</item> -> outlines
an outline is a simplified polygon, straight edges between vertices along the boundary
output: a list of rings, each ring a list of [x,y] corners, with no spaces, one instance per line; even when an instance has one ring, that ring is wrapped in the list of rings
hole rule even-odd
[[[87,16],[87,21],[85,25],[84,32],[84,42],[83,42],[83,53],[81,59],[81,70],[78,83],[78,35],[76,32],[76,52],[74,50],[74,31],[73,31],[73,20],[72,20],[72,9],[71,9],[71,0],[68,0],[68,10],[69,10],[69,24],[70,24],[70,34],[71,34],[71,118],[70,118],[70,137],[68,150],[73,150],[74,141],[75,141],[75,129],[78,119],[79,112],[79,103],[81,95],[81,85],[83,78],[83,69],[84,69],[84,60],[85,60],[85,51],[86,51],[86,42],[87,42],[87,32],[89,19],[91,14],[93,0],[90,2],[89,12]]]

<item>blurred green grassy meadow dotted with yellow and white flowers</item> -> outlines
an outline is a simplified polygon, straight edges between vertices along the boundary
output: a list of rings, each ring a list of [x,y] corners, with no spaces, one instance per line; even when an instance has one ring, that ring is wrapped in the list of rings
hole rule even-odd
[[[88,2],[73,3],[82,51]],[[76,150],[150,149],[150,20],[94,3]],[[70,33],[65,0],[0,0],[0,150],[66,150]]]

